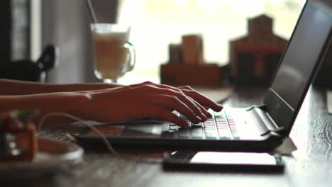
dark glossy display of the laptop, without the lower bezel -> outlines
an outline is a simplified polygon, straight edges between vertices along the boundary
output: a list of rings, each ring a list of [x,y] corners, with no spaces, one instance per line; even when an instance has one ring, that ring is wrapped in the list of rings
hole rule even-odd
[[[332,26],[331,11],[328,6],[306,4],[275,74],[272,89],[293,110],[301,103],[302,94],[306,93],[306,86],[328,39]]]

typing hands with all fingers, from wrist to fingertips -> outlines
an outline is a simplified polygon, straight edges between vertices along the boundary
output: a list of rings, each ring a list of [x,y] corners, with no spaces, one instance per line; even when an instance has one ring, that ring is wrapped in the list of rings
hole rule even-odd
[[[192,123],[199,123],[211,117],[207,108],[214,111],[223,108],[189,86],[175,88],[152,82],[82,91],[82,94],[86,94],[89,101],[73,114],[102,123],[152,117],[183,127],[188,124],[172,111],[182,113]]]

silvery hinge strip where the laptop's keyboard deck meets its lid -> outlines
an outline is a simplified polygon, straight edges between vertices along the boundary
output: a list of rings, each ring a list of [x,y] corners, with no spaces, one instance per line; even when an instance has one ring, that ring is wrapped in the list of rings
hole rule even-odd
[[[277,137],[284,137],[286,130],[284,127],[279,127],[273,119],[270,117],[270,115],[267,114],[266,106],[253,106],[251,108],[248,108],[247,111],[253,112],[256,118],[259,118],[262,123],[261,125],[264,125],[262,129],[261,136],[265,135],[274,135]]]

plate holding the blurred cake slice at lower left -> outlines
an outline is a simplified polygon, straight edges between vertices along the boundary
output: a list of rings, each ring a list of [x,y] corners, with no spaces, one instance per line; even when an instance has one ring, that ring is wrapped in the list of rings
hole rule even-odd
[[[39,139],[38,153],[31,162],[0,162],[0,181],[30,178],[55,172],[82,160],[83,149],[72,142]]]

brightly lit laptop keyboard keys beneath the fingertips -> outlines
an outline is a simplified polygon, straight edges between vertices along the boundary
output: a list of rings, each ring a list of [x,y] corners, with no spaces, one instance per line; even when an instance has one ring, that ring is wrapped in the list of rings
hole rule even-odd
[[[184,115],[179,118],[189,123],[189,128],[181,128],[174,123],[162,125],[162,137],[184,138],[184,139],[210,139],[210,140],[231,140],[238,139],[236,123],[231,114],[225,111],[210,111],[212,118],[204,123],[191,123]]]

